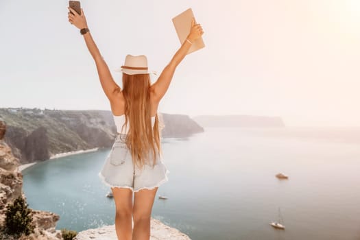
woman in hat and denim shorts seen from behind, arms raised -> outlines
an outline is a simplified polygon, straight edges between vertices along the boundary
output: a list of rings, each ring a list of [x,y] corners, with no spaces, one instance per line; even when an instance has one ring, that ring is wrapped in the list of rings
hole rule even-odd
[[[187,40],[154,84],[150,82],[146,56],[126,56],[121,66],[123,88],[120,88],[95,45],[84,11],[81,9],[81,14],[77,14],[72,8],[69,10],[69,22],[80,29],[95,60],[101,87],[110,101],[117,127],[115,143],[99,171],[99,178],[111,188],[115,200],[117,238],[148,240],[154,197],[160,184],[167,182],[169,173],[160,155],[158,104],[169,88],[176,67],[187,55],[191,44],[204,32],[193,20]]]

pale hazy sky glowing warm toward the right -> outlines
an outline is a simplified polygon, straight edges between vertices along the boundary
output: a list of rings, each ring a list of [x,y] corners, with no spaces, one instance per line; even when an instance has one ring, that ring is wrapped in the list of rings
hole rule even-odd
[[[0,1],[0,107],[110,110],[68,4]],[[181,62],[160,112],[360,125],[359,0],[101,0],[82,8],[110,70],[130,53],[145,54],[158,73],[180,47],[171,19],[193,8],[206,47]],[[120,73],[112,76],[121,86]]]

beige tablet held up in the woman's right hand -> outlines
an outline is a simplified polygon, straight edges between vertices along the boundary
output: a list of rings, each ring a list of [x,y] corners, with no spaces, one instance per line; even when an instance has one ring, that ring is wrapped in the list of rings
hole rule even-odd
[[[173,25],[176,29],[176,33],[178,34],[180,43],[184,43],[185,40],[187,40],[187,36],[190,33],[191,30],[191,21],[193,19],[193,10],[189,8],[188,10],[185,10],[184,12],[178,14],[178,16],[175,16],[173,20]],[[195,20],[196,23],[196,20]],[[202,37],[197,38],[195,42],[191,45],[189,51],[187,54],[192,53],[193,51],[197,51],[199,49],[202,49],[205,47],[204,40]]]

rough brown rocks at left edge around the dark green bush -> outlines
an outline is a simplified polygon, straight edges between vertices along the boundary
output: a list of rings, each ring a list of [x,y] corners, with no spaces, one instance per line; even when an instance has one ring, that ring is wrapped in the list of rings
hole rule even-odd
[[[19,159],[14,157],[10,147],[3,140],[5,132],[5,123],[0,119],[0,226],[3,226],[5,221],[6,206],[12,204],[19,196],[26,200],[22,191],[23,175],[18,169]],[[33,210],[32,214],[36,228],[27,239],[62,239],[61,231],[56,230],[56,221],[60,219],[59,215],[38,210]]]

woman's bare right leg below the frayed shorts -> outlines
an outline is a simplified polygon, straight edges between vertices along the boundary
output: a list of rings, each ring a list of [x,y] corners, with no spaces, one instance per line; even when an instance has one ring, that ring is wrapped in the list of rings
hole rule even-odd
[[[157,190],[158,187],[151,190],[142,189],[134,193],[134,208],[132,209],[134,229],[132,231],[132,240],[150,239],[150,219]]]

